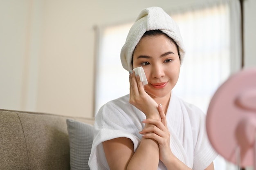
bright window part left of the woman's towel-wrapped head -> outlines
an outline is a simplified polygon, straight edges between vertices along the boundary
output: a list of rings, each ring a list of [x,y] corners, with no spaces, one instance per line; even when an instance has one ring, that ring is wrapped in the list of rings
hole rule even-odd
[[[120,51],[133,23],[102,30],[95,85],[95,114],[106,102],[129,93],[129,73],[120,60]]]

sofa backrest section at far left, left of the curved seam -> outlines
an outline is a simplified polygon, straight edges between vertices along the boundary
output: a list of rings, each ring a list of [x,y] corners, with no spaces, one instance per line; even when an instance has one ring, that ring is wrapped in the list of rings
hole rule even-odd
[[[0,170],[27,170],[29,159],[17,113],[0,110]]]

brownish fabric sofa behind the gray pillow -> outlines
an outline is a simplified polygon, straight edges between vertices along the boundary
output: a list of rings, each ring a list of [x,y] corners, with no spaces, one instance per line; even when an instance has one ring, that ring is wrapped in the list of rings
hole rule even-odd
[[[71,123],[70,129],[67,120]],[[75,156],[79,157],[79,150],[83,152],[81,144],[90,150],[93,123],[94,119],[0,109],[0,170],[79,169],[75,166],[85,161],[78,161]],[[89,127],[89,132],[85,132],[84,127]],[[76,134],[82,135],[81,144],[75,141]],[[88,159],[90,151],[86,154]]]

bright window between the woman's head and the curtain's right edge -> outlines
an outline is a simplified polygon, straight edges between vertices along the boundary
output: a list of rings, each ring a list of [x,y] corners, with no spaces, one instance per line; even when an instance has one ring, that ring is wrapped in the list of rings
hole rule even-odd
[[[173,91],[206,113],[211,96],[230,74],[228,6],[219,4],[172,17],[186,47]]]

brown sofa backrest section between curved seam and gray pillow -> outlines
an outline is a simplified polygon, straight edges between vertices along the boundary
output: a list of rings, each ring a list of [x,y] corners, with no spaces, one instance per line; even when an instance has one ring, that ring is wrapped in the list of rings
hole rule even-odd
[[[27,146],[29,170],[70,169],[67,117],[18,113]]]

